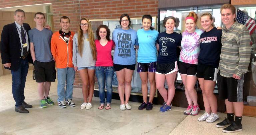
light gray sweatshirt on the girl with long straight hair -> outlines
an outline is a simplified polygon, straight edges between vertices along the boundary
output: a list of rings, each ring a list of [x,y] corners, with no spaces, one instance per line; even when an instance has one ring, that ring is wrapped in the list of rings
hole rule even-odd
[[[88,35],[84,35],[84,43],[83,43],[83,53],[82,57],[78,52],[78,34],[74,34],[73,39],[73,64],[75,67],[91,67],[95,66],[95,60],[92,56],[92,50],[90,47],[90,42],[88,40]]]

